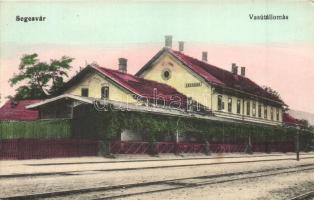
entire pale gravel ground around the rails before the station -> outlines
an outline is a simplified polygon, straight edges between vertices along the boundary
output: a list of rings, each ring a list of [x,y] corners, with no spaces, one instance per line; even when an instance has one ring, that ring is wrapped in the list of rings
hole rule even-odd
[[[228,155],[232,156],[232,155]],[[294,160],[271,161],[271,162],[248,162],[229,163],[219,165],[201,165],[187,167],[138,169],[125,171],[101,171],[111,169],[127,169],[158,166],[176,166],[184,164],[212,164],[237,161],[258,161],[269,159],[294,158],[293,154],[281,154],[280,156],[252,157],[243,155],[233,155],[236,158],[226,158],[226,155],[213,155],[213,159],[192,159],[192,160],[168,160],[158,161],[158,159],[178,159],[174,156],[164,156],[162,158],[150,157],[122,157],[114,161],[124,161],[117,163],[89,163],[84,162],[108,162],[113,159],[104,158],[74,158],[74,159],[47,159],[28,161],[1,161],[0,174],[32,174],[57,172],[50,176],[28,176],[17,178],[0,179],[0,198],[15,195],[25,195],[30,193],[42,193],[52,191],[62,191],[90,187],[103,187],[131,183],[143,183],[149,181],[161,181],[177,178],[187,178],[195,176],[208,176],[215,174],[225,174],[231,172],[242,172],[248,170],[262,170],[274,167],[295,167],[298,165],[310,164],[314,166],[314,158],[301,159],[300,162]],[[256,155],[255,155],[256,156]],[[259,155],[264,156],[264,155]],[[301,158],[314,157],[314,154],[302,155]],[[189,156],[187,158],[193,158]],[[200,158],[198,156],[198,158]],[[201,157],[208,158],[208,157]],[[125,162],[134,159],[152,159],[146,162]],[[156,160],[155,160],[156,159]],[[78,163],[64,164],[59,163]],[[32,164],[32,165],[30,165]],[[34,165],[35,164],[35,165]],[[40,164],[40,165],[38,165]],[[49,164],[49,165],[42,165]],[[56,164],[56,165],[55,165]],[[78,172],[73,172],[78,171]],[[60,174],[62,172],[62,174]],[[66,172],[66,173],[64,173]],[[255,178],[250,180],[234,181],[229,183],[219,183],[208,186],[176,189],[166,192],[158,192],[137,196],[130,196],[127,199],[286,199],[298,195],[303,191],[314,189],[314,170],[282,174],[270,177]],[[153,189],[164,186],[155,186]],[[169,187],[169,185],[168,185]],[[143,192],[150,190],[150,187],[134,188],[132,192]],[[124,191],[120,191],[123,193]],[[108,194],[109,192],[107,192]],[[112,192],[114,193],[114,192]],[[81,196],[81,197],[80,197]],[[92,199],[97,197],[97,193],[84,198],[84,195],[71,196],[74,199]],[[210,198],[209,198],[210,197]],[[68,197],[64,198],[67,199]]]

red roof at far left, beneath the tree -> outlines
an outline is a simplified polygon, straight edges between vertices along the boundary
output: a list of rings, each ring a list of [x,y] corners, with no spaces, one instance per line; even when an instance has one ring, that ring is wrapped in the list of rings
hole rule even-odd
[[[39,119],[39,112],[25,107],[41,100],[21,100],[13,105],[9,100],[0,108],[0,121],[33,121]]]

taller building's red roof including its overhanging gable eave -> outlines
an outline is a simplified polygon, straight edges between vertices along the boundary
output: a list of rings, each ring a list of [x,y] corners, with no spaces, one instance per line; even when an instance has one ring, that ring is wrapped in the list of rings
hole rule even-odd
[[[217,88],[223,88],[232,93],[241,93],[248,97],[259,97],[270,103],[276,105],[284,105],[284,102],[278,97],[268,93],[255,82],[247,77],[234,75],[230,71],[221,69],[219,67],[210,65],[198,59],[192,58],[183,54],[180,51],[174,51],[169,48],[163,48],[159,51],[147,64],[145,64],[137,73],[137,76],[148,77],[147,73],[161,59],[164,53],[168,53],[176,60],[181,66],[189,69],[189,71],[196,75],[198,79],[204,80],[205,83]]]

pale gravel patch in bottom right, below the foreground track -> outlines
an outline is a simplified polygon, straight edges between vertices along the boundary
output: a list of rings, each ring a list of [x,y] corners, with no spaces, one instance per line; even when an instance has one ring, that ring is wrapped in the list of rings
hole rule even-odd
[[[289,199],[314,189],[314,171],[256,178],[197,188],[131,196],[126,199]]]

